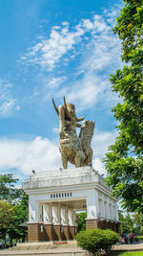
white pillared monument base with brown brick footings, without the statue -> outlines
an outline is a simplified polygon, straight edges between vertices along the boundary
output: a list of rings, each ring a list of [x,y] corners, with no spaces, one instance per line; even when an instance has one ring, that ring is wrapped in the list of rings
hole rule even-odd
[[[92,167],[37,172],[23,183],[29,195],[29,242],[72,241],[76,211],[87,211],[87,228],[119,231],[117,200]]]

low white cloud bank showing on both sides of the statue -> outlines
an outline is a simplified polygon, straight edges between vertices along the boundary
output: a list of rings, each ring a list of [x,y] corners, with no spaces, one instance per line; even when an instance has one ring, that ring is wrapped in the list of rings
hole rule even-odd
[[[107,152],[108,146],[113,143],[114,137],[114,132],[96,132],[93,137],[92,164],[100,174],[106,175],[102,157]],[[16,169],[24,175],[31,175],[31,170],[51,172],[62,167],[56,143],[41,137],[36,137],[31,141],[1,139],[0,159],[1,170]],[[70,163],[69,166],[71,166]]]

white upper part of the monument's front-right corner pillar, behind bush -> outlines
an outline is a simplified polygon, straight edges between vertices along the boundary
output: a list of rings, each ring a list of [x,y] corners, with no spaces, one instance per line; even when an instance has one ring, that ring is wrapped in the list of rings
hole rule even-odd
[[[98,193],[96,190],[90,190],[87,197],[87,219],[97,219],[98,213]]]

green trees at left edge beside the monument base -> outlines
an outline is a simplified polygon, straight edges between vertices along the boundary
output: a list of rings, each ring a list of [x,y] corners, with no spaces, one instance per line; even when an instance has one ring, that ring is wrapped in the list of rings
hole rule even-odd
[[[28,221],[28,196],[14,187],[17,180],[12,175],[0,175],[0,233],[4,240],[8,234],[10,242],[20,238],[24,242],[27,236],[20,224]]]

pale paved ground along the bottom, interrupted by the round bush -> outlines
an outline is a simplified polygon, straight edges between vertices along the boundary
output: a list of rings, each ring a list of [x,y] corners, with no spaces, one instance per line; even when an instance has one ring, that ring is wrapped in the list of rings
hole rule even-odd
[[[135,251],[135,250],[141,250],[143,251],[143,243],[140,244],[120,244],[120,245],[114,245],[112,247],[112,253],[111,256],[118,255],[122,251]],[[79,248],[79,247],[56,247],[56,248],[50,248],[50,249],[27,249],[24,250],[0,250],[0,256],[88,256],[88,253]],[[109,256],[110,256],[109,255]]]

